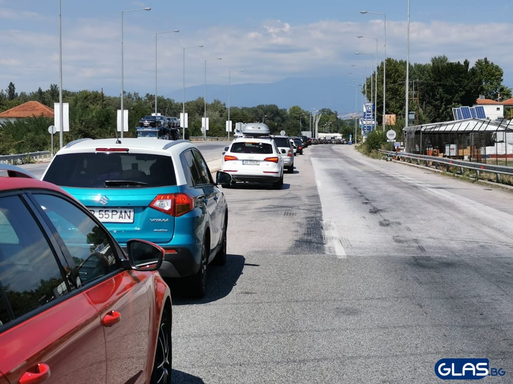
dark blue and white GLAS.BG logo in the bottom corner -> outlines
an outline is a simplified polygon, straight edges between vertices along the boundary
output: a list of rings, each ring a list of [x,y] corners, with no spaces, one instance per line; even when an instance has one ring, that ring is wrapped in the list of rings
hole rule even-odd
[[[504,376],[502,368],[490,368],[488,359],[440,359],[435,373],[443,380],[479,380],[485,376]]]

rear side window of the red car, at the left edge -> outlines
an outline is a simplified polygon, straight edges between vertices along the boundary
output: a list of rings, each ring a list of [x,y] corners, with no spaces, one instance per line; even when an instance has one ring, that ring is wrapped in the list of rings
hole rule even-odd
[[[0,331],[72,289],[61,268],[21,198],[0,198]]]

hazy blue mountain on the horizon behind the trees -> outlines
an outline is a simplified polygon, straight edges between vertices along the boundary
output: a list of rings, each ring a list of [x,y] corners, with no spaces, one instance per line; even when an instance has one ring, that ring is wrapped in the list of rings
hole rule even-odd
[[[257,106],[260,104],[276,104],[278,108],[289,109],[299,105],[305,111],[329,108],[340,115],[354,112],[354,87],[348,86],[351,81],[342,76],[315,78],[286,78],[274,83],[231,84],[230,106]],[[203,97],[204,86],[185,89],[185,100]],[[183,100],[183,89],[164,95],[175,101]],[[207,84],[207,102],[221,100],[228,105],[228,84]],[[357,91],[357,106],[361,109],[362,95]]]

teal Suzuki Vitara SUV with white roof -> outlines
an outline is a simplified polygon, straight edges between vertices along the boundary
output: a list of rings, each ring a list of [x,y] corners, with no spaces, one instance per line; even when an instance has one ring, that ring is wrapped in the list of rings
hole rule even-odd
[[[188,140],[76,140],[54,156],[42,177],[82,202],[122,247],[129,239],[165,250],[163,278],[185,278],[205,294],[207,266],[225,264],[228,205],[198,147]]]

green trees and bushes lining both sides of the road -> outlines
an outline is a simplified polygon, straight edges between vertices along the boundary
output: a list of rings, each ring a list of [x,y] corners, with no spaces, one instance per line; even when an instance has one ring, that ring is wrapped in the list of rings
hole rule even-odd
[[[364,90],[371,89],[371,81],[366,79]],[[355,131],[359,150],[369,156],[379,156],[378,150],[393,150],[393,143],[386,141],[385,132],[393,129],[397,133],[397,141],[402,141],[402,129],[405,126],[405,81],[406,61],[393,58],[386,59],[386,113],[396,116],[394,125],[382,129],[383,110],[383,63],[378,66],[375,105],[377,115],[376,131],[371,132],[365,141],[361,137],[359,124],[361,111],[331,111],[320,109],[317,112],[303,110],[300,106],[280,109],[275,104],[261,104],[252,107],[230,107],[230,120],[235,122],[265,122],[272,134],[282,130],[289,136],[299,136],[301,131],[313,131],[314,113],[320,115],[319,133],[339,133],[346,139],[350,135],[354,141]],[[473,105],[482,95],[487,99],[505,100],[511,98],[511,89],[503,86],[503,70],[487,58],[479,59],[473,66],[468,60],[451,62],[446,56],[433,57],[429,63],[410,63],[409,68],[409,112],[415,113],[415,119],[409,125],[452,120],[452,108],[462,105]],[[307,92],[307,90],[305,90]],[[119,96],[106,96],[101,91],[69,92],[63,90],[63,102],[69,103],[70,132],[63,133],[63,143],[90,137],[93,139],[115,137],[116,114],[120,109]],[[48,90],[39,88],[35,92],[16,93],[15,84],[10,82],[5,90],[0,90],[0,112],[23,104],[27,101],[39,101],[50,108],[59,101],[59,89],[56,84],[50,84]],[[370,94],[367,99],[370,99]],[[152,94],[141,96],[138,93],[125,93],[124,108],[129,113],[129,132],[125,137],[135,137],[135,127],[139,119],[150,115],[155,110],[155,97]],[[180,116],[182,102],[159,96],[157,99],[158,112],[164,116]],[[189,116],[189,128],[186,138],[202,136],[201,118],[204,113],[204,100],[187,101],[185,110]],[[225,121],[228,120],[228,109],[225,103],[214,100],[207,103],[207,115],[210,129],[208,137],[226,137]],[[363,109],[363,106],[362,106]],[[504,115],[513,116],[510,107],[505,107]],[[355,120],[356,119],[356,120]],[[53,119],[31,117],[18,119],[14,122],[0,124],[0,155],[29,153],[51,150],[51,136],[48,127],[53,125]],[[60,147],[60,136],[54,135],[53,150]]]

